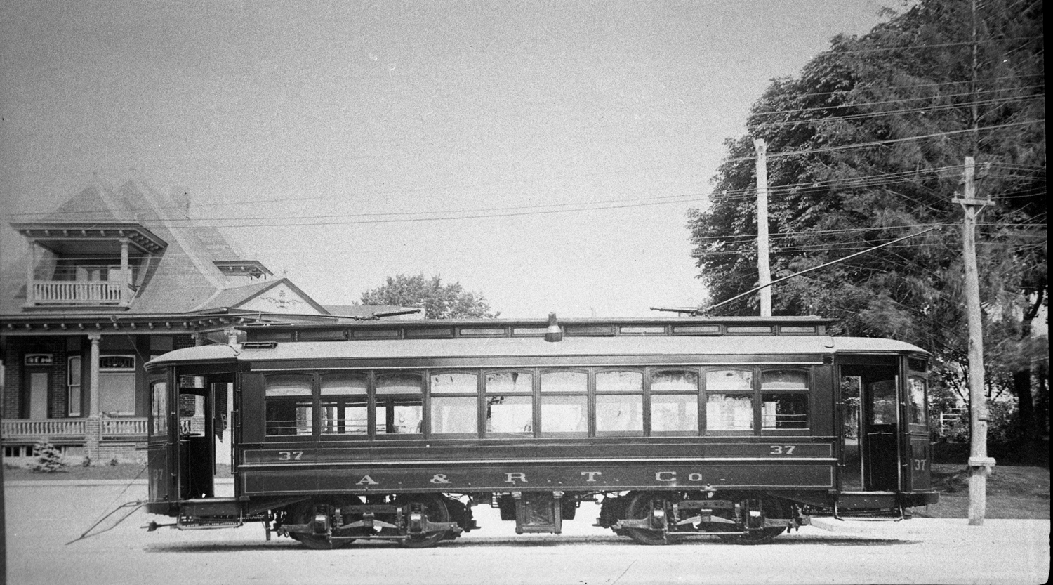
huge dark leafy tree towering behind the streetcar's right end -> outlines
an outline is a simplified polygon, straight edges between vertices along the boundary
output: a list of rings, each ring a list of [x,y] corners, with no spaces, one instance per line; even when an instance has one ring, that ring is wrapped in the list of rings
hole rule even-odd
[[[981,216],[979,243],[987,366],[1016,381],[1034,434],[1030,365],[1048,355],[1030,336],[1048,288],[1042,5],[980,3],[975,43],[973,22],[968,2],[922,0],[867,35],[835,37],[799,78],[774,80],[750,135],[726,142],[711,206],[689,213],[689,229],[712,304],[756,286],[753,138],[769,144],[773,278],[937,228],[777,285],[774,310],[915,343],[941,373],[960,375],[968,339],[952,196],[965,156],[975,156],[977,195],[997,202]],[[755,314],[756,296],[716,312]]]

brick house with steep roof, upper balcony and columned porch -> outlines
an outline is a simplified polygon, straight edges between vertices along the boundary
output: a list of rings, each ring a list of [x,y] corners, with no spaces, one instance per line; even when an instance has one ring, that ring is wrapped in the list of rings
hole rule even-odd
[[[144,460],[151,357],[329,314],[188,215],[185,195],[96,182],[11,223],[25,253],[0,267],[5,457],[48,437],[73,461]]]

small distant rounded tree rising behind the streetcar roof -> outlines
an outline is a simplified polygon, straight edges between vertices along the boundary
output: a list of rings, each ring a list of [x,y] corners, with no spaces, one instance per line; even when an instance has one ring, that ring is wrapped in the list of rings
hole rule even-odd
[[[424,318],[496,317],[482,293],[465,291],[460,282],[443,285],[439,276],[423,274],[388,277],[383,286],[362,293],[363,305],[423,307]]]

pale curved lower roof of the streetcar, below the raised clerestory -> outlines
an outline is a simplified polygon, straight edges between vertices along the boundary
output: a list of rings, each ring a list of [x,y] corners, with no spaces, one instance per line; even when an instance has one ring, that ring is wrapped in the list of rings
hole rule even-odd
[[[473,357],[571,356],[742,356],[823,355],[837,353],[927,353],[894,339],[801,336],[679,336],[679,337],[540,337],[372,339],[350,342],[291,342],[262,347],[212,345],[175,350],[152,359],[148,367],[177,363],[231,363],[312,359],[414,359]]]

